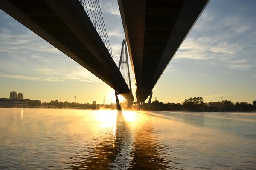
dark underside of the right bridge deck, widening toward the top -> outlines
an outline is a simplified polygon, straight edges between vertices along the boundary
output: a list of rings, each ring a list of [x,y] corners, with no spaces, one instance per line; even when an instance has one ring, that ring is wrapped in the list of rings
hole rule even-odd
[[[145,101],[209,0],[118,0],[137,100]]]

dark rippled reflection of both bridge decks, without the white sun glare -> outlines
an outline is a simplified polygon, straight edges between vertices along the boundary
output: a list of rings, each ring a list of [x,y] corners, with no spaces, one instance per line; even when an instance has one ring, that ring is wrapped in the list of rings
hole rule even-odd
[[[135,129],[133,131],[133,129]],[[168,154],[170,149],[160,143],[150,121],[131,127],[126,122],[122,111],[118,111],[116,127],[113,130],[113,141],[96,147],[87,148],[67,159],[68,169],[101,169],[101,170],[159,170],[172,169]],[[177,165],[177,164],[175,164]],[[179,169],[175,167],[175,169]]]

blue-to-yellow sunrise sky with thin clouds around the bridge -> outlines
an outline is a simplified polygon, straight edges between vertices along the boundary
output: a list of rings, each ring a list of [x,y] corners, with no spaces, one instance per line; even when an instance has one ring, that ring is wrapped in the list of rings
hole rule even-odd
[[[100,0],[113,54],[125,38],[116,0]],[[256,1],[211,0],[153,89],[153,99],[256,100]],[[132,72],[132,71],[131,71]],[[131,73],[131,76],[133,74]],[[132,77],[133,94],[135,84]],[[96,76],[0,10],[0,97],[114,103]],[[121,99],[122,101],[122,99]]]

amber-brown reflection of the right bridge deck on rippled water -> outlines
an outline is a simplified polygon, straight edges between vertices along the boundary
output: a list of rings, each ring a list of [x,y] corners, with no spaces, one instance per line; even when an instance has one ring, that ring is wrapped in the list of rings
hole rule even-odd
[[[132,170],[180,169],[174,162],[175,158],[170,157],[166,150],[172,153],[172,148],[160,141],[151,120],[146,121],[134,135]]]

